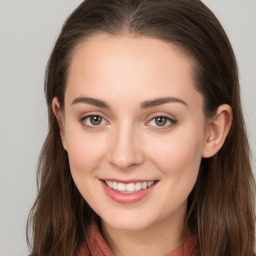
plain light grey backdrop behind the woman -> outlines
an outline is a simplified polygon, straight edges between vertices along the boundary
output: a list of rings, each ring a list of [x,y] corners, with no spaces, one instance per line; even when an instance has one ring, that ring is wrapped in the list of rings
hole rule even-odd
[[[25,226],[47,132],[44,70],[60,28],[81,0],[0,0],[0,256],[28,255]],[[240,71],[256,156],[256,0],[205,0],[224,26]],[[255,159],[253,159],[255,171]]]

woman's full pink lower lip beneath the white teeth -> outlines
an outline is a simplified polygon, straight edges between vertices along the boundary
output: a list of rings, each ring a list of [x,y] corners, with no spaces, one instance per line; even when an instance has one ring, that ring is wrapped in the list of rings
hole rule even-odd
[[[132,204],[145,198],[154,189],[157,182],[155,182],[149,188],[132,193],[121,193],[108,187],[104,181],[101,181],[101,183],[104,191],[112,200],[122,204]]]

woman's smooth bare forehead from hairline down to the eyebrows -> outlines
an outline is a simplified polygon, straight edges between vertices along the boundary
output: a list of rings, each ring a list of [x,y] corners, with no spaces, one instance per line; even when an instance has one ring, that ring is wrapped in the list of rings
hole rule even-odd
[[[159,39],[132,35],[99,35],[79,44],[72,55],[66,89],[67,98],[140,95],[141,101],[166,94],[189,100],[192,92],[198,94],[193,64],[184,51]]]

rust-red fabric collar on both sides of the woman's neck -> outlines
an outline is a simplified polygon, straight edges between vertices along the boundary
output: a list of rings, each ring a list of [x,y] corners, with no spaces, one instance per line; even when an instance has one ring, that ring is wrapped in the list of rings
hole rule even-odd
[[[89,233],[88,246],[83,244],[79,249],[78,256],[114,256],[96,223],[92,224]],[[163,256],[194,256],[195,247],[196,239],[190,237],[183,246]]]

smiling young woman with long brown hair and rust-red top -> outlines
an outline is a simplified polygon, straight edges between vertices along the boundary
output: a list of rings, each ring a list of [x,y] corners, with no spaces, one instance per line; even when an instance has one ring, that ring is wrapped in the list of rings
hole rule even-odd
[[[198,0],[87,0],[49,60],[31,255],[253,255],[237,65]]]

